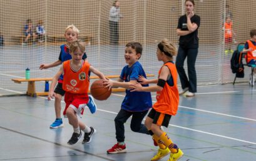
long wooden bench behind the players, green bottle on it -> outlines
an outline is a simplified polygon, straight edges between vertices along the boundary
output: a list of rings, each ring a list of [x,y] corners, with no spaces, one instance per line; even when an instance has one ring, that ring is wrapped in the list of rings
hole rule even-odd
[[[146,74],[146,77],[154,77],[154,74]],[[120,75],[112,75],[112,76],[106,76],[108,78],[118,78]],[[90,79],[99,79],[98,76],[90,76]],[[48,95],[48,92],[36,92],[36,84],[35,82],[37,81],[51,81],[53,78],[48,77],[48,78],[31,78],[31,79],[20,79],[20,78],[15,78],[11,79],[14,81],[14,83],[21,84],[21,82],[28,82],[28,89],[26,94],[31,96],[31,97],[36,97],[39,95]],[[117,89],[112,89],[112,92],[124,92],[125,89],[123,88],[117,88]],[[90,92],[90,90],[89,90]]]

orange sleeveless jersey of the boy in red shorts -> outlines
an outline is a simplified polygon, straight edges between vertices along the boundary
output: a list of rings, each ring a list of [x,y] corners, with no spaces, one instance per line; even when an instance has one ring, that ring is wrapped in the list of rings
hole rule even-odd
[[[71,69],[71,60],[63,62],[63,90],[72,94],[88,93],[90,79],[88,76],[90,64],[84,62],[79,71]]]

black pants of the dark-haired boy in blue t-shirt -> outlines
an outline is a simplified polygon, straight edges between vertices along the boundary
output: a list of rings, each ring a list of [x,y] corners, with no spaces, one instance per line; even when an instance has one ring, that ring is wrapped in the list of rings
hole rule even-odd
[[[144,119],[145,115],[148,113],[148,110],[143,112],[130,112],[127,110],[121,109],[115,118],[115,126],[116,126],[116,140],[118,142],[125,141],[125,122],[131,115],[131,130],[133,132],[139,132],[142,134],[149,134],[148,129],[146,129],[144,124],[141,124],[142,120]]]

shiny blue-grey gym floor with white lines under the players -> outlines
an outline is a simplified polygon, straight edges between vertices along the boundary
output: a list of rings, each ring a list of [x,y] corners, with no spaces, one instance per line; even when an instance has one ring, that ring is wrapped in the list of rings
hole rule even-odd
[[[199,86],[195,97],[181,96],[178,114],[165,128],[184,152],[180,160],[256,160],[255,94],[248,84],[226,84]],[[0,160],[150,160],[158,148],[150,135],[130,130],[130,119],[125,124],[127,153],[106,154],[116,144],[114,119],[124,95],[96,100],[96,114],[86,108],[81,120],[96,134],[90,144],[81,139],[73,146],[66,144],[73,133],[67,119],[64,127],[49,129],[55,119],[53,100],[0,97]],[[154,93],[152,98],[155,102]]]

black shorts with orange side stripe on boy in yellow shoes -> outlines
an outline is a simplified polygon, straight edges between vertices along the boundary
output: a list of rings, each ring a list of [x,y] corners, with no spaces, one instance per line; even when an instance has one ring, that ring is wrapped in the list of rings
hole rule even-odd
[[[153,124],[168,127],[172,115],[157,112],[152,108],[148,114],[148,117],[153,119]]]

